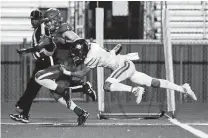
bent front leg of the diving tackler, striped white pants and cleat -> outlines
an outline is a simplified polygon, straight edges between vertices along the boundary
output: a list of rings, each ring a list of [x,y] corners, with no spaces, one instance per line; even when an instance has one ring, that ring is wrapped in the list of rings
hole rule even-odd
[[[104,84],[104,90],[108,92],[113,91],[125,91],[134,93],[137,97],[136,102],[140,103],[141,97],[144,93],[143,87],[132,87],[120,83],[123,80],[128,79],[135,72],[135,66],[131,61],[125,61],[122,66],[114,70],[110,77],[107,78]]]

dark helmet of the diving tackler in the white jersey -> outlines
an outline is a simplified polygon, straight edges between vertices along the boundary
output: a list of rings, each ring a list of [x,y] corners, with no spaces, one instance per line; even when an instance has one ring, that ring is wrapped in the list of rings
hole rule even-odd
[[[89,51],[88,43],[85,39],[76,40],[71,48],[71,57],[76,66],[84,63],[87,53]]]

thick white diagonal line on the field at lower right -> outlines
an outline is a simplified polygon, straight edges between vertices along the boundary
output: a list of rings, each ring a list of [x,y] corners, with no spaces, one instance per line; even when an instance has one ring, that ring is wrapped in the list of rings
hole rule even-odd
[[[208,138],[208,134],[202,132],[201,130],[195,129],[195,128],[189,126],[188,124],[183,124],[183,123],[179,122],[177,119],[172,119],[172,118],[169,117],[168,120],[171,123],[173,123],[173,124],[175,124],[177,126],[180,126],[181,128],[191,132],[195,136],[198,136],[200,138]]]

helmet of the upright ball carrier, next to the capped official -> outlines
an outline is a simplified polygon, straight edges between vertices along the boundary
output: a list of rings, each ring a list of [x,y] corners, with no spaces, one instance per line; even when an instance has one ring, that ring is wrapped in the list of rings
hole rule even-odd
[[[63,22],[61,12],[56,8],[50,8],[44,13],[44,24],[50,31],[55,31]]]

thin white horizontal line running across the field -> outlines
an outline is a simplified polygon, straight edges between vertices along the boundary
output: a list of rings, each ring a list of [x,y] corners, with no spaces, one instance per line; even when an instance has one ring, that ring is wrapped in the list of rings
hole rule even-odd
[[[49,126],[76,126],[77,123],[50,123],[50,122],[42,122],[42,123],[1,123],[1,125],[49,125]],[[175,126],[175,123],[110,123],[110,122],[105,122],[105,123],[85,123],[86,126]],[[208,126],[208,123],[187,123],[183,125],[195,125],[195,126]]]

